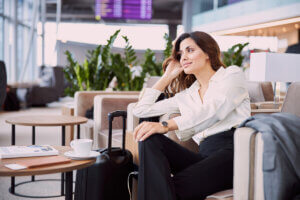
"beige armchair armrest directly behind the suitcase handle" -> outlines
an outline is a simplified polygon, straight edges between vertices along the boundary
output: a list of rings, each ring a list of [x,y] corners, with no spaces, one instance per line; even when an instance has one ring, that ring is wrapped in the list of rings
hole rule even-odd
[[[138,100],[138,93],[133,95],[110,94],[97,95],[94,98],[94,148],[100,147],[101,143],[106,144],[106,141],[100,141],[99,134],[104,130],[108,130],[108,113],[116,110],[126,110],[128,104]],[[113,129],[121,129],[121,119],[115,119]],[[101,143],[100,143],[101,142]]]

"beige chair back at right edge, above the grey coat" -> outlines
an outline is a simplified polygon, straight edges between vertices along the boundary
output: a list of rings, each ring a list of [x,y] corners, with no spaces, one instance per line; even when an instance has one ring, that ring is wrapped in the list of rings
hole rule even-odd
[[[286,93],[281,112],[291,113],[300,117],[300,82],[292,83]]]

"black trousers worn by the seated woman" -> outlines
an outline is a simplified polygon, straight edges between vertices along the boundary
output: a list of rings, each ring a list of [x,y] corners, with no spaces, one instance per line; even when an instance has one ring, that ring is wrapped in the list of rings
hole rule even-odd
[[[231,189],[234,130],[207,137],[199,153],[161,134],[139,142],[138,200],[200,200]]]

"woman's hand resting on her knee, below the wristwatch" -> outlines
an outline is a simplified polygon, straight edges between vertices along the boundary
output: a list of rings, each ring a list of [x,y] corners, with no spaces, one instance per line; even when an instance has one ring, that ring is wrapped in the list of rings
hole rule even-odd
[[[135,141],[143,141],[153,134],[166,132],[168,132],[168,128],[159,122],[142,122],[134,129],[133,137]]]

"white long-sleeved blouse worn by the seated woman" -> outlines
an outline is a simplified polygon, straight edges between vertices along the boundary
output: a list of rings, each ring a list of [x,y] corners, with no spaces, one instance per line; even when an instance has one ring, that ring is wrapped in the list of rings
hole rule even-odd
[[[250,117],[250,98],[245,76],[237,66],[220,67],[209,80],[203,96],[195,81],[189,88],[174,97],[156,102],[159,90],[145,88],[133,114],[139,118],[180,113],[173,118],[178,126],[175,131],[180,140],[191,137],[199,144],[205,137],[236,127]]]

